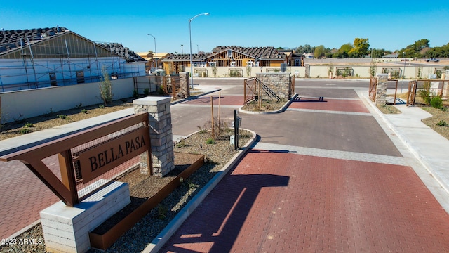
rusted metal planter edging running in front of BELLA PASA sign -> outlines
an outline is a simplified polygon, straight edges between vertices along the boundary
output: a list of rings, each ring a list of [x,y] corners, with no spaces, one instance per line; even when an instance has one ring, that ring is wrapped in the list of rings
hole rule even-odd
[[[130,230],[135,226],[135,223],[138,223],[140,219],[142,219],[145,215],[147,215],[154,207],[156,207],[164,198],[166,198],[170,193],[173,192],[178,186],[180,186],[182,179],[187,179],[190,175],[192,175],[197,169],[199,169],[204,164],[204,155],[199,155],[199,159],[196,160],[192,165],[190,165],[187,169],[182,171],[175,179],[170,181],[164,188],[162,188],[158,193],[156,193],[153,197],[150,197],[147,201],[145,201],[140,207],[135,209],[133,212],[128,214],[124,219],[122,219],[119,223],[113,226],[106,233],[99,235],[97,233],[89,233],[89,239],[91,240],[91,247],[95,249],[105,250],[118,240],[121,235],[126,233],[126,231]]]

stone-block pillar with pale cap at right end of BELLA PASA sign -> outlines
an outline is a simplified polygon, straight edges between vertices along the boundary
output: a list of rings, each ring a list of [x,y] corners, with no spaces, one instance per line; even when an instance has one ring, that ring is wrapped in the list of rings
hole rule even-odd
[[[133,104],[135,114],[148,113],[154,176],[165,176],[175,169],[170,98],[145,97],[133,100]],[[141,156],[141,161],[146,161],[146,157],[143,156]],[[141,166],[143,167],[144,164],[141,163]]]

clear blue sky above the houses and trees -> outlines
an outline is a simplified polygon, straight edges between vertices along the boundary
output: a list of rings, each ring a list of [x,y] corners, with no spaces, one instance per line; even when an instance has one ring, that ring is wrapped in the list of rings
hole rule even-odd
[[[20,3],[20,4],[18,4]],[[279,4],[279,5],[276,5]],[[6,1],[0,29],[60,25],[87,39],[118,42],[135,52],[189,53],[215,46],[304,44],[340,48],[368,38],[390,51],[419,39],[449,43],[449,3],[434,1]],[[181,45],[183,45],[181,47]],[[197,46],[198,45],[198,46]]]

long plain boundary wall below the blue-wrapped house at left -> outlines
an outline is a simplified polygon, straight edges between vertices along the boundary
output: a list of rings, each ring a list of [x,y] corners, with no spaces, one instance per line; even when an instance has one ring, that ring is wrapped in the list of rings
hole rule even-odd
[[[133,96],[133,78],[112,80],[113,100]],[[1,123],[102,103],[99,82],[0,93]]]

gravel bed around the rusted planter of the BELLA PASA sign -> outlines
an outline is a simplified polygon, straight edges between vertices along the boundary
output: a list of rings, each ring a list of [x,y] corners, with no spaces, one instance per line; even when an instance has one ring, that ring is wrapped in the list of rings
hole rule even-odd
[[[208,131],[198,132],[178,142],[175,145],[176,153],[203,154],[205,155],[205,164],[105,252],[141,252],[145,249],[145,247],[156,238],[156,235],[158,235],[176,216],[180,209],[182,209],[182,207],[184,207],[196,193],[199,193],[199,190],[201,190],[201,188],[203,188],[203,186],[205,186],[206,183],[208,183],[208,181],[210,181],[210,179],[212,179],[213,176],[215,176],[215,174],[217,174],[217,172],[220,171],[232,157],[234,157],[234,155],[236,155],[238,151],[234,150],[232,145],[229,145],[229,136],[231,134],[233,134],[233,131],[230,129],[224,131],[224,133],[220,135],[220,139],[215,141],[215,144],[206,143],[208,138],[210,138],[210,133]],[[253,134],[249,131],[241,130],[239,132],[239,143],[241,143],[241,146],[246,144],[252,136]],[[188,157],[184,157],[181,160],[185,161],[188,159]],[[185,162],[180,163],[185,164]],[[179,171],[182,171],[182,168],[178,168],[177,172],[179,173]],[[140,196],[136,197],[139,200],[150,197],[154,193],[154,191],[153,193],[150,193],[150,191],[152,191],[154,180],[157,180],[157,178],[130,173],[123,176],[121,179],[121,181],[126,180],[128,180],[130,184],[133,184],[132,188],[140,186],[138,193],[133,193]],[[147,192],[145,192],[145,190],[142,191],[142,189],[147,189]],[[39,223],[31,230],[22,233],[15,239],[19,241],[24,238],[43,238],[41,224]],[[0,252],[46,251],[45,243],[43,242],[36,245],[3,245],[0,247]],[[103,251],[91,249],[89,252],[97,253]]]

